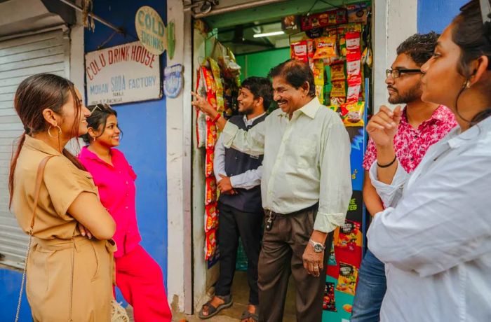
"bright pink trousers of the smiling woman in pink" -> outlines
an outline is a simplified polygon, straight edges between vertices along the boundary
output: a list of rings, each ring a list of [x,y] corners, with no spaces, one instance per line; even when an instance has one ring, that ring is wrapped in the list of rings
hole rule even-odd
[[[170,322],[162,270],[142,246],[116,258],[116,286],[133,307],[135,322]]]

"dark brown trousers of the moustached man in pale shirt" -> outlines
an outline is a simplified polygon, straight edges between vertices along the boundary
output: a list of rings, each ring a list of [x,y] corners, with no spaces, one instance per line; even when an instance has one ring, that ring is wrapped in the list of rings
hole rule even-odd
[[[332,232],[325,241],[321,276],[309,275],[302,255],[314,230],[317,207],[295,214],[277,214],[271,230],[264,230],[259,259],[260,321],[281,322],[288,279],[293,274],[297,286],[297,321],[322,320],[325,272],[332,244]]]

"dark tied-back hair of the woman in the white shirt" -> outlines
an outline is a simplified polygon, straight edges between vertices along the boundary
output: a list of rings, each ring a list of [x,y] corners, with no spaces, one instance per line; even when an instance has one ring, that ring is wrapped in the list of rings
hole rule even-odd
[[[484,0],[489,1],[489,0]],[[452,41],[456,43],[461,49],[461,55],[459,59],[459,64],[457,66],[457,71],[469,80],[472,76],[472,71],[469,68],[469,64],[474,60],[478,59],[480,56],[487,56],[489,63],[487,65],[487,70],[491,69],[491,25],[489,22],[486,24],[483,22],[483,18],[480,13],[479,0],[472,0],[466,5],[460,8],[460,13],[455,17],[452,22],[454,24],[454,29],[452,30]],[[459,109],[457,107],[457,101],[459,100],[460,94],[466,90],[466,86],[462,86],[457,98],[455,99],[455,111],[457,115],[462,118],[459,114]],[[487,88],[491,94],[491,86]],[[476,125],[485,118],[491,116],[491,107],[480,111],[471,120],[467,120],[470,125]],[[465,120],[462,118],[462,120]]]

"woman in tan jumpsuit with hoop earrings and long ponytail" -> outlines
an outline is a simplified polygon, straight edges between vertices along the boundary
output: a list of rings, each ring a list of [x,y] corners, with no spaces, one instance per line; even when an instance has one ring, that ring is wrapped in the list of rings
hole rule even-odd
[[[69,80],[52,74],[22,81],[14,105],[25,133],[11,163],[9,190],[25,232],[39,164],[53,156],[39,190],[27,260],[34,321],[110,321],[115,224],[90,174],[65,150],[70,139],[87,132],[88,109]]]

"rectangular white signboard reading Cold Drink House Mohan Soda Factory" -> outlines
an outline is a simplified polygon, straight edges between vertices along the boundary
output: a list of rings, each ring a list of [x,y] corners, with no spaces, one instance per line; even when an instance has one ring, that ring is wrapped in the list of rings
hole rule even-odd
[[[160,60],[140,41],[86,54],[89,105],[123,104],[159,99]]]

